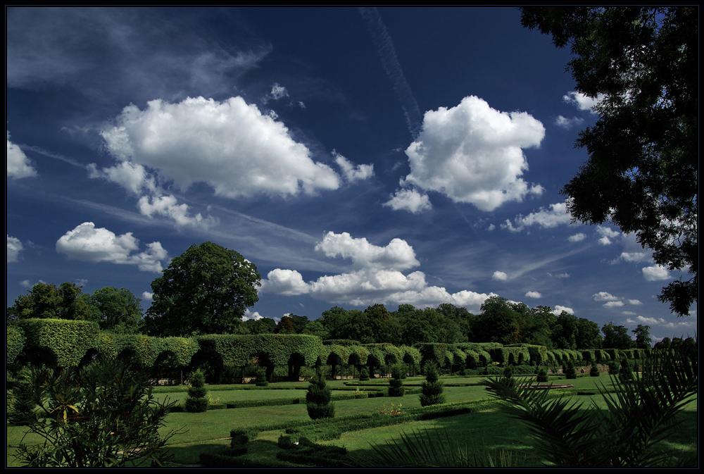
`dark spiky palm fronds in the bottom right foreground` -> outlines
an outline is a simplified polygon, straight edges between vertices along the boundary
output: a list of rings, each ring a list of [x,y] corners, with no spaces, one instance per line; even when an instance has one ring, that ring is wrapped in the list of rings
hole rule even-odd
[[[498,409],[521,420],[534,449],[560,468],[696,466],[665,444],[677,430],[679,412],[698,393],[696,347],[662,351],[646,359],[643,373],[629,381],[611,376],[613,391],[601,392],[607,407],[584,406],[548,390],[527,388],[529,380],[484,380]]]

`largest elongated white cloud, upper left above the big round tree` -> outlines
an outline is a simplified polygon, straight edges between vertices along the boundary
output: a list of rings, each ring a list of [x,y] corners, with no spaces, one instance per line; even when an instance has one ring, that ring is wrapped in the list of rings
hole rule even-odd
[[[237,198],[339,187],[337,173],[313,161],[283,123],[239,96],[154,100],[144,111],[130,105],[101,135],[119,161],[157,170],[182,189],[206,182],[215,194]]]

